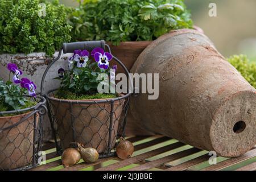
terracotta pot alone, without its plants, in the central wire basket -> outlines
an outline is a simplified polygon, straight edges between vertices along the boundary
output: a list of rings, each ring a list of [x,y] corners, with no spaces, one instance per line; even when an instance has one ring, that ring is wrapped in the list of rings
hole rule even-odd
[[[61,147],[68,148],[72,142],[79,142],[85,147],[93,147],[99,153],[108,149],[110,111],[109,102],[99,104],[77,104],[76,100],[59,100],[50,94],[48,101],[56,121],[57,136]],[[97,102],[101,100],[79,100],[78,102]],[[125,99],[114,101],[112,118],[111,148],[119,129],[119,120],[125,105]]]

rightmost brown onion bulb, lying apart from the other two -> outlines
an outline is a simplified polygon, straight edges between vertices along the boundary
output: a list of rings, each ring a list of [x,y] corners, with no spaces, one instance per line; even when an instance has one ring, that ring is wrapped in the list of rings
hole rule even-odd
[[[118,144],[116,149],[118,158],[129,159],[131,155],[133,155],[133,151],[134,151],[133,143],[121,137],[120,143]]]

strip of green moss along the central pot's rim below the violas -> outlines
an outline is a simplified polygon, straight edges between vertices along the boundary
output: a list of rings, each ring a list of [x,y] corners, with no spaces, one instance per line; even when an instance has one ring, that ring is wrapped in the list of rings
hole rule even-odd
[[[117,94],[84,94],[77,95],[72,92],[59,91],[55,94],[55,98],[64,99],[64,100],[93,100],[93,99],[102,99],[102,98],[115,98]]]

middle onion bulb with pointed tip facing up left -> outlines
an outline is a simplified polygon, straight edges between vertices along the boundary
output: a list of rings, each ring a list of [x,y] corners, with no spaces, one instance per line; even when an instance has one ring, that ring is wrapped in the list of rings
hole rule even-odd
[[[82,160],[84,160],[86,163],[95,163],[98,160],[98,152],[95,148],[84,148],[81,146],[81,144],[79,144],[79,151]]]

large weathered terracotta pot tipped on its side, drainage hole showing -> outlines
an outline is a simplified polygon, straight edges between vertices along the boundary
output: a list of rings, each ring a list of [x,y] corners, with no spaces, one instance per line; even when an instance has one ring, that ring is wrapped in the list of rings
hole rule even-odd
[[[131,73],[159,73],[159,98],[131,97],[130,134],[147,130],[224,157],[255,146],[256,90],[201,32],[161,36],[141,53]]]

